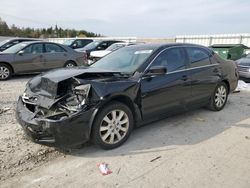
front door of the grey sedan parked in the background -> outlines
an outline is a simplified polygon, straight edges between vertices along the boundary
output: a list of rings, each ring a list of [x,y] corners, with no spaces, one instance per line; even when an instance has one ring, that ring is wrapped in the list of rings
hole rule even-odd
[[[25,47],[23,53],[15,55],[17,72],[40,72],[43,70],[43,44],[35,43]]]

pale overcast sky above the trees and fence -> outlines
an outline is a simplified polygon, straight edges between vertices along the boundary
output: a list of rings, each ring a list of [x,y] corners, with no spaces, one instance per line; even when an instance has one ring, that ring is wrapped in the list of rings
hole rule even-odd
[[[106,36],[250,33],[249,0],[0,0],[19,27],[85,29]]]

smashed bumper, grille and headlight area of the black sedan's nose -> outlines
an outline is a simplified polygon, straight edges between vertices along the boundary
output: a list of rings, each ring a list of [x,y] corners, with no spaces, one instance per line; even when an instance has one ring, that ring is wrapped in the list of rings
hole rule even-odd
[[[91,85],[75,77],[36,77],[19,97],[17,119],[35,142],[76,145],[89,139],[95,102]]]

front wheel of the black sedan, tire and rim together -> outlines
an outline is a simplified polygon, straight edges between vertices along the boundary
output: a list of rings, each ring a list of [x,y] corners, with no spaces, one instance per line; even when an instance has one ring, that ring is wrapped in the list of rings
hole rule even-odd
[[[134,118],[128,106],[112,102],[104,107],[93,124],[93,142],[102,149],[114,149],[129,137],[134,126]]]

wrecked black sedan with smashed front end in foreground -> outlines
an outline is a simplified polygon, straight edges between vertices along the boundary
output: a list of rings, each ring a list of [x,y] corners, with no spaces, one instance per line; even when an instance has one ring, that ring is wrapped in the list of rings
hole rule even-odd
[[[17,119],[35,142],[69,146],[91,138],[112,149],[145,122],[201,106],[222,110],[237,82],[234,62],[203,46],[128,46],[89,68],[33,78]]]

